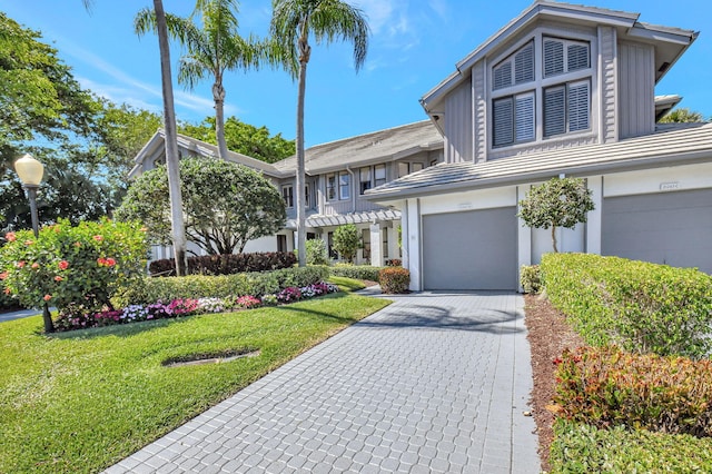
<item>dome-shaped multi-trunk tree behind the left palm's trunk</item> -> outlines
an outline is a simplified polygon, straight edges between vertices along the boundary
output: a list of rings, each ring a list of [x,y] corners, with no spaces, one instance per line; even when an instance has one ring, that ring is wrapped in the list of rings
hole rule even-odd
[[[248,240],[268,236],[285,225],[279,191],[257,171],[220,159],[180,160],[188,239],[210,255],[241,253]],[[121,220],[140,220],[150,238],[169,241],[166,167],[139,176],[117,209]]]

